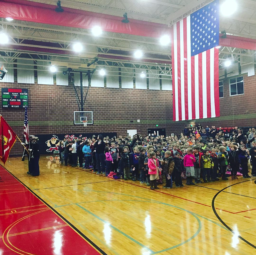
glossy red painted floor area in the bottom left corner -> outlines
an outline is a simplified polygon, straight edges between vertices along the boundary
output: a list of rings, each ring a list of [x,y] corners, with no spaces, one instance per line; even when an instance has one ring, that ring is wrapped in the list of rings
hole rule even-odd
[[[2,166],[0,176],[1,255],[100,254]]]

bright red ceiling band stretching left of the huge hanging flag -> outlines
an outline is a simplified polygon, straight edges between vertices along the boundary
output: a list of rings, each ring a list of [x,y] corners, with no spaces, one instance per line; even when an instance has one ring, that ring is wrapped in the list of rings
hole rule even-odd
[[[91,29],[98,25],[103,31],[140,35],[159,38],[170,34],[165,24],[130,19],[129,23],[121,22],[124,18],[84,10],[63,7],[63,13],[55,12],[57,5],[43,4],[26,0],[2,0],[0,17],[31,21],[66,27]]]

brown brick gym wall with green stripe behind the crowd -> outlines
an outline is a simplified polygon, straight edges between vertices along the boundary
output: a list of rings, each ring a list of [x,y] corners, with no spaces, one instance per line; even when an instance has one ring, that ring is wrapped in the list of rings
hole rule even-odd
[[[252,126],[256,115],[256,76],[244,76],[244,95],[229,96],[228,79],[224,80],[224,98],[220,99],[220,118],[196,121],[172,121],[172,91],[143,89],[113,89],[90,87],[84,111],[93,111],[94,125],[72,125],[74,111],[78,110],[73,86],[18,84],[14,72],[14,83],[0,83],[0,87],[29,89],[30,134],[117,132],[126,135],[127,129],[137,129],[141,135],[148,128],[166,128],[166,133],[178,134],[185,125],[208,124],[216,126]],[[240,75],[241,76],[241,75]],[[36,77],[36,71],[35,71]],[[35,78],[35,83],[37,79]],[[54,79],[56,84],[56,78]],[[79,87],[78,87],[79,89]],[[78,91],[80,94],[80,91]],[[21,137],[23,135],[24,109],[2,108],[1,114]],[[137,123],[140,119],[140,123]],[[133,123],[130,123],[133,120]],[[20,154],[22,148],[16,144],[12,154]]]

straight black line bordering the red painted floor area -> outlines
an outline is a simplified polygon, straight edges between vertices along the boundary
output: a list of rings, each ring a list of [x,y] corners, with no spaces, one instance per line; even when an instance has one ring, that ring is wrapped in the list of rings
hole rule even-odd
[[[2,165],[1,165],[2,166]],[[9,174],[11,174],[16,180],[18,180],[23,186],[25,186],[32,194],[34,194],[39,200],[41,200],[45,205],[47,205],[52,211],[54,211],[62,220],[64,220],[71,228],[73,228],[80,236],[82,236],[84,239],[86,239],[87,242],[89,242],[97,251],[99,251],[103,255],[106,254],[105,251],[103,251],[99,246],[97,246],[89,237],[87,237],[85,234],[83,234],[78,228],[76,228],[71,222],[69,222],[65,217],[63,217],[59,212],[57,212],[51,205],[45,202],[41,197],[39,197],[31,188],[29,188],[27,185],[25,185],[19,178],[17,178],[15,175],[13,175],[9,170],[7,170],[4,166],[2,166]]]

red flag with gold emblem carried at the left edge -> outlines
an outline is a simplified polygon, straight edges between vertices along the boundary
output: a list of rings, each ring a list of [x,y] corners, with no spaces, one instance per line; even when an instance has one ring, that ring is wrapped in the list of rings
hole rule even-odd
[[[2,116],[0,117],[0,141],[2,141],[0,146],[0,158],[5,164],[9,157],[10,150],[16,142],[16,134]]]

